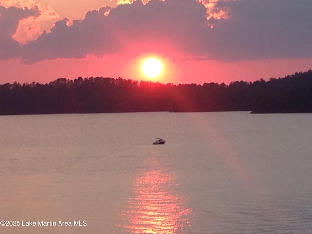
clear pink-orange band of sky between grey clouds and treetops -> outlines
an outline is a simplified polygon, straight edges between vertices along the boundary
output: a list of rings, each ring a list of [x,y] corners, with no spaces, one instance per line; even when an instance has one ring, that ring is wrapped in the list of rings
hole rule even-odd
[[[134,61],[133,61],[134,60]],[[84,59],[54,59],[32,65],[20,64],[18,59],[0,61],[1,83],[49,83],[57,78],[75,79],[79,76],[103,76],[133,80],[147,80],[139,71],[136,59],[124,61],[114,56],[98,58],[92,55]],[[118,64],[126,66],[119,67]],[[133,66],[133,64],[137,66]],[[284,77],[311,68],[312,59],[269,59],[259,61],[230,62],[184,61],[166,65],[161,78],[150,79],[161,83],[230,83],[236,80],[254,81],[260,78]]]

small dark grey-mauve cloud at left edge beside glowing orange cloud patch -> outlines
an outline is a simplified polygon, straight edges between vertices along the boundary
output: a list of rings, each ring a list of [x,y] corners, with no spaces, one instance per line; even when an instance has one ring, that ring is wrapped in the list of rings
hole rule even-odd
[[[38,8],[5,8],[0,5],[0,59],[11,59],[19,55],[19,43],[12,39],[19,21],[38,15]]]

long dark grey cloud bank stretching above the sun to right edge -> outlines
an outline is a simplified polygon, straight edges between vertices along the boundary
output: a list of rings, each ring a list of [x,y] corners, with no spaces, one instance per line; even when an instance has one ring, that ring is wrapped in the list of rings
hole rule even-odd
[[[153,41],[171,44],[189,59],[312,57],[311,0],[220,1],[216,7],[232,17],[207,20],[196,0],[136,1],[110,9],[107,16],[109,8],[103,7],[70,26],[66,18],[56,22],[51,32],[22,46],[20,55],[25,63],[82,58]]]

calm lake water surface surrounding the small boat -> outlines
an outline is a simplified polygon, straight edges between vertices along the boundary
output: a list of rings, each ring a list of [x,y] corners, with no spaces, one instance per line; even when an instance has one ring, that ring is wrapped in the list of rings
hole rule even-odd
[[[0,233],[312,232],[312,114],[0,116],[0,129],[0,219],[20,221]]]

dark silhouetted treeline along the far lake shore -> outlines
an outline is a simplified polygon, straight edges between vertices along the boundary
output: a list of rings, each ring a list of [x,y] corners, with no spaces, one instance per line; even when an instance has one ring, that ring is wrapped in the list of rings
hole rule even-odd
[[[312,112],[312,70],[229,85],[174,85],[103,77],[0,85],[1,115],[146,111]]]

